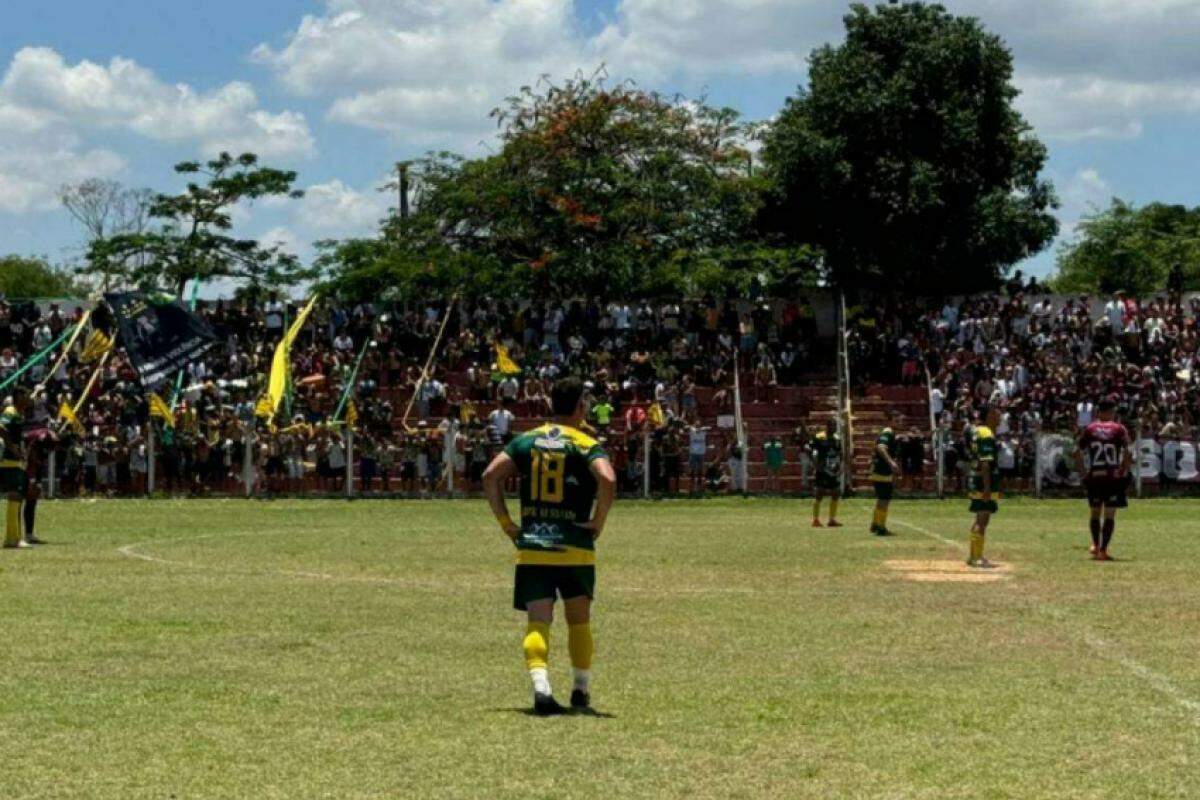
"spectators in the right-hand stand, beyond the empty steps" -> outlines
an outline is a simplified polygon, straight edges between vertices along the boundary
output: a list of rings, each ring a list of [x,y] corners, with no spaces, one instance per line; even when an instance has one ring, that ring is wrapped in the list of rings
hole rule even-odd
[[[850,354],[859,381],[920,385],[947,474],[961,482],[964,426],[1000,405],[1000,469],[1030,480],[1043,432],[1074,435],[1114,397],[1120,419],[1160,440],[1200,425],[1200,299],[1031,296],[1020,290],[858,309]],[[935,445],[936,446],[936,445]],[[932,458],[935,453],[931,453]]]

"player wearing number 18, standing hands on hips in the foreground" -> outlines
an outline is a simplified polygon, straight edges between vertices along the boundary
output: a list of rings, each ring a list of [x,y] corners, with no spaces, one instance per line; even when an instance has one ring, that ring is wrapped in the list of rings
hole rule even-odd
[[[551,390],[552,421],[512,439],[484,474],[484,493],[517,548],[512,604],[528,614],[524,658],[539,715],[562,714],[547,673],[550,624],[563,599],[568,650],[575,669],[571,708],[592,704],[592,599],[595,540],[604,533],[617,476],[600,444],[578,428],[587,415],[583,384],[563,378]],[[504,501],[504,483],[521,482],[521,524]]]

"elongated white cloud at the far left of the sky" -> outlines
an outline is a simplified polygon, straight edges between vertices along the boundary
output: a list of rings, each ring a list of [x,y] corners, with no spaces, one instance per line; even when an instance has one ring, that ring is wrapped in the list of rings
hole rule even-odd
[[[194,143],[204,155],[232,150],[296,157],[314,150],[304,115],[260,109],[250,84],[233,82],[199,92],[167,84],[122,58],[107,66],[70,65],[49,48],[18,50],[0,83],[0,107],[42,125]]]

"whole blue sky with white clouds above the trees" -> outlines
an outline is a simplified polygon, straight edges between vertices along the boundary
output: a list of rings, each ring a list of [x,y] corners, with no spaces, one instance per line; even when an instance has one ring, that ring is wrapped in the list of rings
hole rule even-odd
[[[948,0],[1009,43],[1050,146],[1066,231],[1112,196],[1200,204],[1200,2]],[[251,149],[304,200],[239,233],[311,253],[362,235],[397,158],[480,152],[487,110],[542,73],[604,62],[647,86],[768,118],[840,35],[834,0],[43,0],[0,28],[0,253],[79,252],[55,190],[168,190],[170,164]],[[1044,275],[1052,253],[1025,265]]]

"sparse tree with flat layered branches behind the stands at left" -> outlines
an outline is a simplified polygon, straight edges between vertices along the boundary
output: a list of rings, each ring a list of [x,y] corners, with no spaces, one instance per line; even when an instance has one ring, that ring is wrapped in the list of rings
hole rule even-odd
[[[204,164],[176,164],[175,172],[206,180],[190,181],[180,194],[157,194],[148,211],[150,219],[158,223],[157,229],[94,241],[80,272],[116,275],[176,295],[182,295],[192,278],[236,278],[258,291],[292,285],[314,275],[277,246],[263,247],[254,240],[230,235],[232,210],[239,203],[302,197],[302,192],[293,190],[294,172],[259,167],[253,154],[234,158],[226,152]]]

